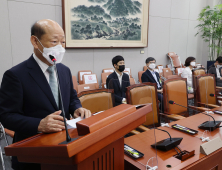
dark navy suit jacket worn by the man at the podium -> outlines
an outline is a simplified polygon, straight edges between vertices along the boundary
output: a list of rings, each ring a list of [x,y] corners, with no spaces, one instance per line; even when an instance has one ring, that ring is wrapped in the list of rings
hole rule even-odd
[[[66,118],[82,107],[68,67],[57,64]],[[31,56],[4,73],[0,89],[0,122],[15,131],[14,142],[37,134],[41,119],[58,111],[49,83]]]

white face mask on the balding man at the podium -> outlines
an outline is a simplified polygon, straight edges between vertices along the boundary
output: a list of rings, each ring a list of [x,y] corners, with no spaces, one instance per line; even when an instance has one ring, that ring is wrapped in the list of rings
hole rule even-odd
[[[37,38],[37,37],[36,37]],[[38,38],[37,38],[38,39]],[[39,39],[38,39],[39,41]],[[43,47],[43,52],[41,52],[39,49],[39,52],[42,53],[42,56],[50,63],[54,64],[54,62],[50,59],[49,55],[52,55],[56,59],[56,63],[61,63],[63,56],[66,52],[66,50],[62,47],[62,45],[56,45],[54,47],[46,48],[42,45],[42,43],[39,41],[41,46]]]

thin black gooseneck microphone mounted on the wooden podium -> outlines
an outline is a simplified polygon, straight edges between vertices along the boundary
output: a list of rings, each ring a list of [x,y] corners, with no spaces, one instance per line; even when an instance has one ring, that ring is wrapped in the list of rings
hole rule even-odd
[[[60,98],[60,103],[61,103],[61,107],[62,107],[62,116],[63,116],[63,119],[64,119],[64,124],[65,124],[65,129],[66,129],[66,141],[64,141],[60,144],[68,144],[68,143],[74,141],[75,138],[72,139],[69,136],[69,132],[68,132],[67,124],[66,124],[66,117],[65,117],[65,111],[64,111],[63,100],[62,100],[62,93],[61,93],[61,89],[60,89],[59,76],[58,76],[58,71],[57,71],[57,67],[56,67],[56,59],[52,55],[49,55],[49,57],[54,62],[54,68],[55,68],[55,72],[56,72],[56,78],[57,78],[57,84],[58,84],[59,96],[60,96],[59,98]]]

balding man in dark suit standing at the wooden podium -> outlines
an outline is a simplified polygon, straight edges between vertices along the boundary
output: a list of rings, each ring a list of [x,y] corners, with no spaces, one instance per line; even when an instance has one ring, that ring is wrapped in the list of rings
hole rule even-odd
[[[57,79],[49,54],[58,61],[57,69],[65,116],[90,117],[91,112],[82,108],[73,89],[68,67],[59,63],[65,53],[65,35],[58,23],[41,20],[31,28],[31,57],[7,70],[0,89],[0,122],[15,131],[14,142],[37,133],[59,132],[65,129]],[[20,163],[12,158],[15,170],[40,170],[39,164]]]

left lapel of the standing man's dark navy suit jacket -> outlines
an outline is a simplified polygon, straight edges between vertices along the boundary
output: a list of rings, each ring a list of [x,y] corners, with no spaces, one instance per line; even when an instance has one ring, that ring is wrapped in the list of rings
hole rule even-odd
[[[30,76],[35,80],[41,90],[45,93],[48,97],[49,101],[52,103],[53,107],[58,110],[58,106],[55,102],[54,96],[52,94],[52,90],[49,86],[49,83],[42,72],[41,68],[39,67],[38,63],[35,61],[33,56],[28,59],[28,68]]]

